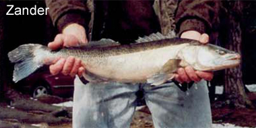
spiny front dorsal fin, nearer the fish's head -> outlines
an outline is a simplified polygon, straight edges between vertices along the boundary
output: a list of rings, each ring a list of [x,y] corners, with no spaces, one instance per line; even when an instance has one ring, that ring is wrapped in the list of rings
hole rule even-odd
[[[143,38],[139,37],[137,40],[135,40],[137,43],[140,42],[150,42],[155,40],[162,40],[166,38],[175,38],[176,34],[174,31],[169,32],[166,36],[162,35],[160,32],[150,34],[150,36],[144,36]]]

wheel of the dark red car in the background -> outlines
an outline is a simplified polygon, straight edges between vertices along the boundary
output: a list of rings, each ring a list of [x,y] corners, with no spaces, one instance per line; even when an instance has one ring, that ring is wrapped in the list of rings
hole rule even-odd
[[[43,95],[51,94],[51,90],[48,85],[39,85],[32,90],[33,98],[38,98]]]

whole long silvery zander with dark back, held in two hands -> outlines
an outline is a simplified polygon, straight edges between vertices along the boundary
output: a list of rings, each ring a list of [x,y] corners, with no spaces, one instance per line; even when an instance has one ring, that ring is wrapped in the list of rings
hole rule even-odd
[[[110,39],[90,42],[86,46],[51,51],[41,44],[24,44],[8,53],[15,63],[13,81],[27,77],[44,65],[44,59],[69,56],[86,65],[84,78],[89,82],[131,82],[163,84],[174,77],[179,67],[190,65],[199,71],[216,71],[235,67],[238,53],[196,40],[167,38],[160,33],[139,38],[133,44],[119,44]]]

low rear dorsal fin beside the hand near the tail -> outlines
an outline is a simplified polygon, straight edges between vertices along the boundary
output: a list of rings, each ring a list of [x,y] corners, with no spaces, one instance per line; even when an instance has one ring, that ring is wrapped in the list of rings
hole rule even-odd
[[[114,40],[111,40],[109,38],[102,38],[98,41],[90,41],[88,44],[81,44],[79,46],[73,46],[71,47],[74,49],[90,49],[90,48],[99,48],[99,47],[106,47],[106,46],[117,46],[120,45],[119,42],[115,42]],[[69,47],[70,49],[70,47]]]

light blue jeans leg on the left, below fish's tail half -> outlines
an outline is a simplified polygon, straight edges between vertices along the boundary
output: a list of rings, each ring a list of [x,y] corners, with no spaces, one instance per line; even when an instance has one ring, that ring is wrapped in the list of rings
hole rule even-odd
[[[129,127],[138,85],[115,82],[84,85],[75,78],[73,127]]]

